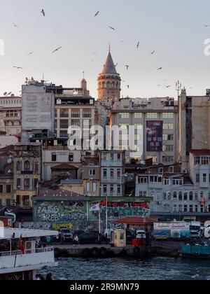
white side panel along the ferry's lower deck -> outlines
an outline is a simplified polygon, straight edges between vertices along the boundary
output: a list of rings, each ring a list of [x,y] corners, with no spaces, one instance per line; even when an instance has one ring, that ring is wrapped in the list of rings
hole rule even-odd
[[[26,251],[25,254],[21,251],[0,252],[0,274],[56,265],[54,249],[51,247]]]

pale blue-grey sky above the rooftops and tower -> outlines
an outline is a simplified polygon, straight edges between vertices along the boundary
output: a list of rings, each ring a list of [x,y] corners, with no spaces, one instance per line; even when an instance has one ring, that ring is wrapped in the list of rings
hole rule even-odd
[[[78,87],[85,71],[97,98],[109,42],[123,97],[177,97],[176,80],[187,94],[203,95],[210,88],[210,56],[204,55],[209,10],[209,0],[0,0],[0,96],[20,95],[26,77],[41,80],[43,74],[56,85]]]

